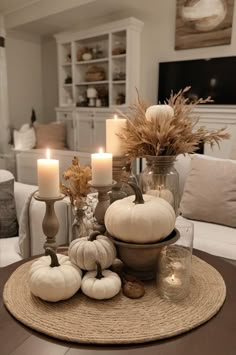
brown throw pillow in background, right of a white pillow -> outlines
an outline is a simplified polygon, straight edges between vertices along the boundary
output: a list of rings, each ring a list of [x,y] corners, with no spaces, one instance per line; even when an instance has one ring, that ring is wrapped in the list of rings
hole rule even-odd
[[[64,123],[36,124],[36,148],[66,149],[66,126]]]

